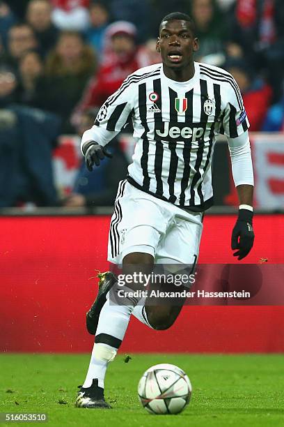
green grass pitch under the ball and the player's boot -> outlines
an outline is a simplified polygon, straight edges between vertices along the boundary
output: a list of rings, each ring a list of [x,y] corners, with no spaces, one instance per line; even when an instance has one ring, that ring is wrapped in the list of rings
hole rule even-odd
[[[283,355],[133,354],[109,366],[105,395],[112,410],[74,407],[88,354],[1,354],[0,412],[46,412],[46,426],[284,426]],[[183,368],[193,386],[178,415],[151,415],[137,384],[158,363]],[[17,403],[16,403],[17,402]],[[23,426],[24,423],[7,423]],[[34,423],[33,423],[34,424]]]

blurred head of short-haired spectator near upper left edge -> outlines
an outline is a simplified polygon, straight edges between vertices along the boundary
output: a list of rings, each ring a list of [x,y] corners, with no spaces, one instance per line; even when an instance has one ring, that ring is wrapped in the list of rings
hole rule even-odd
[[[26,23],[14,24],[8,31],[8,52],[6,60],[17,69],[19,59],[27,50],[36,49],[38,40],[33,29]]]

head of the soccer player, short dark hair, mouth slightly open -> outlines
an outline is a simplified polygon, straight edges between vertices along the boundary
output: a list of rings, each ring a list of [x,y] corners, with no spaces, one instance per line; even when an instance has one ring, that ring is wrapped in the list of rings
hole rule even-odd
[[[198,39],[191,31],[190,23],[182,20],[164,21],[157,40],[157,51],[168,68],[186,68],[198,50]]]

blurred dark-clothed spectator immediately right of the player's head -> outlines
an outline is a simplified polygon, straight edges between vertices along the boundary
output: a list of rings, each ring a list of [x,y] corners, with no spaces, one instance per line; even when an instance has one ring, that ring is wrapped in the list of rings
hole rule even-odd
[[[192,0],[191,16],[196,24],[196,35],[200,43],[196,60],[221,65],[225,59],[227,29],[216,0]],[[206,60],[205,57],[209,55],[210,60]]]

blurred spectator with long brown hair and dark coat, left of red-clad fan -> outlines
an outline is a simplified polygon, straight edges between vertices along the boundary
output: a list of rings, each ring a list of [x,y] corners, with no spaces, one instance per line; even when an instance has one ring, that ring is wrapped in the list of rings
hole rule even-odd
[[[63,133],[72,133],[70,114],[97,67],[95,54],[79,33],[63,31],[55,49],[49,53],[45,76],[36,87],[36,105],[58,114],[63,120]]]

